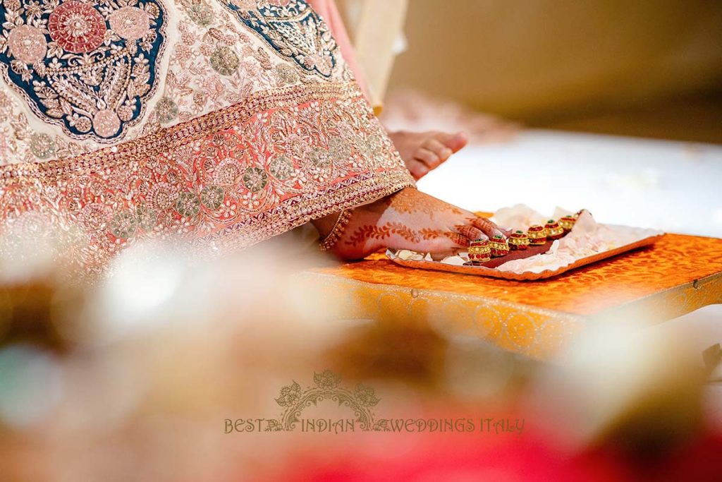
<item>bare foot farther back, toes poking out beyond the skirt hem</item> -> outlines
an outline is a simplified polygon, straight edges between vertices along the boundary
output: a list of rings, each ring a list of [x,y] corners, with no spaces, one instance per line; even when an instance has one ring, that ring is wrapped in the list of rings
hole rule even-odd
[[[417,179],[438,168],[454,152],[458,152],[466,142],[469,142],[463,132],[447,134],[437,131],[398,131],[389,132],[388,137],[399,151],[406,168]]]

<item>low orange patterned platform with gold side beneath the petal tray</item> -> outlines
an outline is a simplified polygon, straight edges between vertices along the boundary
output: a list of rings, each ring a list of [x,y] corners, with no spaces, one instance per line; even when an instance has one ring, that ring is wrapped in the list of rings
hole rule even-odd
[[[375,254],[313,270],[354,299],[354,314],[406,311],[443,320],[444,330],[482,337],[544,358],[590,318],[661,322],[722,303],[722,239],[668,234],[648,249],[549,280],[509,281],[400,267]]]

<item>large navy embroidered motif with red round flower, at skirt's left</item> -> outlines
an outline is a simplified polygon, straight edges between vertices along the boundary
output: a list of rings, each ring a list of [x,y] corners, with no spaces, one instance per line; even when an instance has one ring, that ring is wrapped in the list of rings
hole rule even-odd
[[[142,119],[165,48],[160,0],[0,0],[0,21],[0,71],[40,119],[96,142]]]

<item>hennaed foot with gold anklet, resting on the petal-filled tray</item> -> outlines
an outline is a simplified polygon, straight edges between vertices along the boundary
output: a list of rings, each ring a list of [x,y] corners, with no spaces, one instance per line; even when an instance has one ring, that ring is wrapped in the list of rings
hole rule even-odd
[[[338,215],[314,221],[326,236]],[[342,236],[331,249],[341,259],[362,259],[384,247],[410,249],[439,257],[461,251],[475,239],[503,232],[486,218],[406,188],[355,208]]]

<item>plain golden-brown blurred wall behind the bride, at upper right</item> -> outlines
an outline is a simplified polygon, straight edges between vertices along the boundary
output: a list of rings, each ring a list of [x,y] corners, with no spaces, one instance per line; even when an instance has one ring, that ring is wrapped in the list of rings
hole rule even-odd
[[[411,0],[389,89],[527,126],[722,142],[722,4]]]

